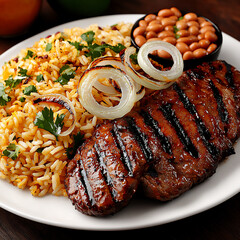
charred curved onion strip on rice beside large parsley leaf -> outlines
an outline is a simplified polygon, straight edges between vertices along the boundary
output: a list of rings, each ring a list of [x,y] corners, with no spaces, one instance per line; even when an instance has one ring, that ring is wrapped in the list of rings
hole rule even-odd
[[[59,136],[67,136],[69,135],[75,128],[76,121],[77,121],[77,114],[72,102],[63,96],[62,94],[34,94],[35,100],[33,101],[34,104],[44,104],[46,103],[56,103],[68,110],[68,112],[73,116],[72,125],[64,132],[61,132]]]

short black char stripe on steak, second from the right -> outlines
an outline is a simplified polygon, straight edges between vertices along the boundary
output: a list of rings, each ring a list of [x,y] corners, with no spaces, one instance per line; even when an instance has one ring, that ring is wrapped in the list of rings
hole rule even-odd
[[[223,123],[228,123],[228,111],[224,105],[221,94],[219,93],[217,87],[214,85],[212,80],[209,81],[209,85],[213,91],[213,96],[216,99],[218,113]]]

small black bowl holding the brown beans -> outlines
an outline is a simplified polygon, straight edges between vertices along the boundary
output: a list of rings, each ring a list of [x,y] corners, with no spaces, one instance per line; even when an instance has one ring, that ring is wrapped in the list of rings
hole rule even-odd
[[[186,14],[186,12],[184,11],[181,11],[181,13],[184,15]],[[157,15],[157,13],[154,13],[155,15]],[[143,17],[141,17],[140,19],[138,19],[133,27],[132,27],[132,30],[131,30],[131,42],[132,42],[132,45],[134,47],[136,47],[137,49],[139,49],[139,46],[136,44],[135,40],[134,40],[134,37],[133,37],[133,31],[135,28],[137,28],[139,26],[139,21],[143,20],[148,14],[144,15]],[[199,16],[199,15],[198,15]],[[202,17],[202,16],[201,16]],[[184,60],[184,70],[187,70],[189,68],[193,68],[203,62],[210,62],[210,61],[214,61],[218,58],[218,55],[220,53],[220,50],[221,50],[221,47],[222,47],[222,41],[223,41],[223,37],[222,37],[222,31],[220,30],[220,28],[215,24],[213,23],[211,20],[209,20],[208,18],[206,17],[203,17],[205,18],[207,21],[209,21],[210,23],[212,23],[213,27],[215,28],[215,33],[218,37],[217,41],[215,42],[215,44],[217,44],[217,48],[210,54],[202,57],[202,58],[196,58],[196,59],[190,59],[190,60]],[[150,57],[152,59],[154,59],[155,61],[159,62],[160,64],[162,64],[164,67],[168,67],[168,66],[172,66],[172,60],[170,59],[165,59],[165,58],[160,58],[156,55],[150,55]]]

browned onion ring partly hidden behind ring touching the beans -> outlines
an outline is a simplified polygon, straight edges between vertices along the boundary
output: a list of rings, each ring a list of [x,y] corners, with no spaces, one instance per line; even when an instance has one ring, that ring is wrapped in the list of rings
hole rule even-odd
[[[135,53],[136,53],[136,48],[128,47],[125,50],[125,52],[123,53],[123,55],[121,56],[123,64],[126,68],[127,74],[131,78],[133,78],[134,81],[136,81],[140,85],[143,85],[144,87],[147,87],[147,88],[150,88],[153,90],[160,90],[160,89],[168,88],[171,84],[173,84],[173,82],[167,83],[167,82],[163,82],[163,81],[154,81],[154,80],[147,78],[147,77],[141,75],[140,73],[138,73],[132,67],[131,60],[130,60],[130,56]]]

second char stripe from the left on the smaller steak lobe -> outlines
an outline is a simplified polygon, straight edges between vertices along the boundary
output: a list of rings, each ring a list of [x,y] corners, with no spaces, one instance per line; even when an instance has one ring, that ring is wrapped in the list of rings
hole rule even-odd
[[[115,200],[115,197],[117,196],[117,192],[115,191],[115,189],[112,188],[113,186],[113,180],[108,172],[107,166],[104,162],[105,159],[105,153],[104,151],[101,151],[99,145],[97,143],[94,144],[94,148],[96,150],[96,155],[97,155],[97,159],[99,161],[99,165],[100,165],[100,170],[102,173],[102,176],[107,184],[107,186],[109,187],[109,192],[112,196],[112,199]]]

